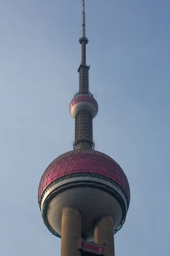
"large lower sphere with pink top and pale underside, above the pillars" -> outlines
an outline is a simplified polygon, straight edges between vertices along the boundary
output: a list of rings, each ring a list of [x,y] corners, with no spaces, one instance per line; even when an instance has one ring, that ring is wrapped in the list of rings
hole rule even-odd
[[[65,206],[82,215],[82,236],[94,239],[97,219],[111,215],[114,233],[125,222],[130,202],[129,183],[121,167],[99,151],[75,150],[57,157],[42,175],[38,200],[48,229],[61,236],[61,215]]]

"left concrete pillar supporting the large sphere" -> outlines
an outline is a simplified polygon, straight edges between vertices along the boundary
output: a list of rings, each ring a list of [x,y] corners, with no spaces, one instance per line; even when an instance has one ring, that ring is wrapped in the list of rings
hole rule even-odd
[[[61,225],[61,256],[81,256],[77,249],[77,237],[81,237],[81,215],[74,207],[64,207]]]

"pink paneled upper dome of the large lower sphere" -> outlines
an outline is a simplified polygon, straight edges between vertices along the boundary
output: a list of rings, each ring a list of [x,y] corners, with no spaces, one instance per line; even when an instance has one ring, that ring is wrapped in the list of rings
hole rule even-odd
[[[38,201],[41,204],[44,192],[51,188],[62,177],[70,178],[80,174],[98,175],[107,177],[108,181],[115,182],[124,193],[127,206],[130,202],[130,188],[127,177],[122,168],[108,155],[94,150],[74,150],[57,157],[45,170],[41,177],[38,189]]]

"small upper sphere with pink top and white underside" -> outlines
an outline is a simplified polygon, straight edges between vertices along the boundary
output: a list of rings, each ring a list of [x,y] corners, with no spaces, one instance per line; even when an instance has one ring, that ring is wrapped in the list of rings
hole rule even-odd
[[[89,94],[79,94],[71,100],[69,110],[73,118],[76,118],[78,111],[81,110],[89,111],[92,118],[94,118],[98,112],[98,104],[93,96]]]

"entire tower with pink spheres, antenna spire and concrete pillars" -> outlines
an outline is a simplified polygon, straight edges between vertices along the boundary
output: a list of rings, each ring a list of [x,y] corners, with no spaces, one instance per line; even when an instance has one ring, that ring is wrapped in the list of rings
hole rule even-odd
[[[44,224],[61,238],[61,256],[114,256],[114,234],[125,222],[130,188],[121,167],[94,150],[93,119],[98,104],[89,90],[85,0],[79,43],[79,91],[69,106],[75,119],[74,150],[47,167],[40,180],[38,201]]]

